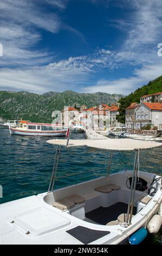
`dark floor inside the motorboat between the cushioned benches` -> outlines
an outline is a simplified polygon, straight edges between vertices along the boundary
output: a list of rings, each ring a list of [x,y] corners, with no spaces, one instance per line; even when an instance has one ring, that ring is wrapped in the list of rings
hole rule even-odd
[[[102,207],[89,211],[86,214],[85,221],[90,223],[96,223],[101,225],[106,225],[110,221],[117,220],[120,214],[126,214],[128,205],[125,203],[118,202],[109,207]],[[137,208],[134,207],[133,215],[136,214]]]

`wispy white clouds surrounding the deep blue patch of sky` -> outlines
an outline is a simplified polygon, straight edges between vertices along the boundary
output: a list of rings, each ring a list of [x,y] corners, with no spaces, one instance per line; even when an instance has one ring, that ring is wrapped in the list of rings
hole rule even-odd
[[[36,1],[37,5],[34,4]],[[132,6],[134,15],[122,22],[122,26],[121,20],[114,21],[116,26],[127,31],[127,38],[119,51],[98,48],[86,56],[70,57],[59,62],[54,62],[54,53],[31,50],[31,46],[35,46],[42,39],[38,28],[50,33],[67,29],[80,36],[83,42],[85,38],[75,28],[63,24],[55,13],[43,14],[44,3],[50,4],[53,9],[64,9],[68,0],[36,1],[1,0],[0,18],[3,21],[0,34],[3,57],[0,58],[0,65],[12,66],[0,69],[1,89],[36,93],[73,89],[128,94],[161,75],[162,58],[157,56],[157,42],[161,42],[161,0],[125,0],[125,3]],[[88,1],[106,4],[109,2]],[[13,68],[17,65],[19,68]],[[85,87],[87,83],[92,84],[92,78],[94,81],[96,74],[101,71],[114,72],[120,68],[128,69],[129,66],[134,69],[129,78],[124,78],[123,75],[123,78],[111,81],[103,77],[94,86]]]

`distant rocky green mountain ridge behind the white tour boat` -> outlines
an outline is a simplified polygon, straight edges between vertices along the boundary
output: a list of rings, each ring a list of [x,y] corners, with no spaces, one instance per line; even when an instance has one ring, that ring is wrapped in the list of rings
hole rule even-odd
[[[87,107],[100,103],[112,104],[123,95],[107,93],[62,93],[48,92],[42,95],[28,92],[0,91],[0,119],[28,119],[36,122],[51,122],[51,113],[62,110],[64,106]]]

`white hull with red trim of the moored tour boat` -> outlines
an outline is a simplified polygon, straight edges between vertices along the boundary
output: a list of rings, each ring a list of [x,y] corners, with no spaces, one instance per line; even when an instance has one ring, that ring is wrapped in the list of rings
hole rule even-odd
[[[66,130],[57,131],[21,131],[10,127],[12,135],[27,135],[27,136],[66,136]]]

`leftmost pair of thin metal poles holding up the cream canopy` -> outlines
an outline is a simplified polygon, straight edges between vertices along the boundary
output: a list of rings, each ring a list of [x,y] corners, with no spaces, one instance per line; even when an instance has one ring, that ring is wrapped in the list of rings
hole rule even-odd
[[[56,153],[55,153],[53,172],[51,174],[48,193],[52,192],[53,188],[54,188],[54,183],[55,183],[55,180],[56,180],[57,167],[58,167],[58,164],[59,164],[60,153],[61,153],[61,146],[57,146],[56,147]]]

